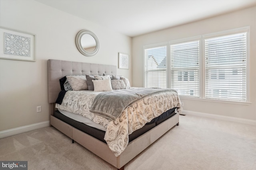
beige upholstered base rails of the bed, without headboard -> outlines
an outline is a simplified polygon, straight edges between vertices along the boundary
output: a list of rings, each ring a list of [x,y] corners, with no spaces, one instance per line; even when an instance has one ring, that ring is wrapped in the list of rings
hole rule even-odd
[[[122,152],[118,157],[114,156],[112,150],[110,150],[106,143],[99,141],[98,139],[72,127],[71,125],[54,117],[53,115],[50,116],[50,122],[52,126],[70,137],[72,140],[84,146],[86,149],[90,150],[116,168],[122,170],[122,168],[124,169],[124,165],[132,160],[136,155],[154,143],[154,141],[164,135],[164,133],[169,131],[172,127],[178,125],[179,114],[170,117],[150,131],[134,139],[127,145],[124,152]]]

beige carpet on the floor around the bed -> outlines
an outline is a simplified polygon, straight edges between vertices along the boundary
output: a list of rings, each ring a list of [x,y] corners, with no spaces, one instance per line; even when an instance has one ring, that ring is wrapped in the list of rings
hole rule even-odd
[[[0,139],[0,160],[29,170],[115,170],[54,127]],[[191,115],[136,156],[125,170],[256,170],[256,127]]]

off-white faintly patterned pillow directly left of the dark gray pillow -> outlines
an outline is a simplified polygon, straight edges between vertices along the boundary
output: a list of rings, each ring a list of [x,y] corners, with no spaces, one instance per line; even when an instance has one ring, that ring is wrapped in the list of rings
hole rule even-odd
[[[73,90],[88,90],[86,76],[66,76]]]

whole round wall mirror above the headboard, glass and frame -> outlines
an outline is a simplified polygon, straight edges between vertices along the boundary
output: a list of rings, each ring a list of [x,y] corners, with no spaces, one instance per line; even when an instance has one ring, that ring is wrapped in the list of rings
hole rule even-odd
[[[91,57],[99,50],[99,40],[92,31],[84,29],[76,35],[76,47],[80,53]]]

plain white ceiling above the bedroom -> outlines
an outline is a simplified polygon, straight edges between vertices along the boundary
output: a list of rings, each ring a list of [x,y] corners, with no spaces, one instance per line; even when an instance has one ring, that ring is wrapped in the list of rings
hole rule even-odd
[[[256,0],[36,0],[134,37],[256,5]]]

